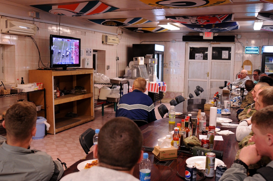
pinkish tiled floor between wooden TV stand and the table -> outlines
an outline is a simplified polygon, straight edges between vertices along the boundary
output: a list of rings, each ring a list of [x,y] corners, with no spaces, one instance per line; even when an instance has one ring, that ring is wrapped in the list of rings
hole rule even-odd
[[[170,103],[162,103],[170,109]],[[161,119],[158,112],[160,103],[156,103],[155,113],[156,118]],[[102,125],[115,117],[113,106],[104,109],[104,116],[101,110],[95,111],[94,121],[90,121],[68,130],[57,133],[56,135],[48,134],[43,139],[32,140],[31,148],[47,152],[51,157],[56,160],[59,158],[62,162],[67,164],[67,167],[85,157],[81,144],[79,143],[79,136],[87,128],[99,129]],[[90,149],[92,151],[92,148]]]

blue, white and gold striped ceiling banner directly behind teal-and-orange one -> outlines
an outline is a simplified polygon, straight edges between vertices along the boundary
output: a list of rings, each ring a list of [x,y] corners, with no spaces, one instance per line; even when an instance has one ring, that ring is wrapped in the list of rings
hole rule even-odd
[[[105,26],[130,26],[135,24],[143,24],[152,22],[150,20],[146,20],[144,18],[120,18],[120,19],[88,19],[90,22],[94,22],[97,24],[102,24]]]

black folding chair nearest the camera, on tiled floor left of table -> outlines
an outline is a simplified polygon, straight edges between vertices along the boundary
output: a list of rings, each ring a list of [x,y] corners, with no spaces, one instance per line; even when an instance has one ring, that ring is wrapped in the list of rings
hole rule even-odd
[[[94,145],[94,143],[93,143],[93,136],[94,135],[95,135],[95,130],[88,128],[79,137],[82,149],[84,149],[84,152],[86,154],[88,154],[88,152],[90,151],[91,146]]]

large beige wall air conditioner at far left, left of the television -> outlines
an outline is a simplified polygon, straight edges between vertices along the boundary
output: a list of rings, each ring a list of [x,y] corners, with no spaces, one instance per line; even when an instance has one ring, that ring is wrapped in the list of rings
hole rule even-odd
[[[2,18],[0,20],[1,33],[34,36],[37,31],[36,24],[20,22],[16,20],[8,20]]]

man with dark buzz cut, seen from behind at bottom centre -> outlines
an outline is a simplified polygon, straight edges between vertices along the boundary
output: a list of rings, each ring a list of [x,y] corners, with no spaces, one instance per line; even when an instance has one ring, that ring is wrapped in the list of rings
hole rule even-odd
[[[102,126],[98,144],[94,146],[98,165],[68,174],[61,180],[138,180],[133,170],[143,159],[142,143],[142,133],[132,120],[113,118]]]

